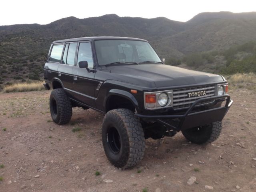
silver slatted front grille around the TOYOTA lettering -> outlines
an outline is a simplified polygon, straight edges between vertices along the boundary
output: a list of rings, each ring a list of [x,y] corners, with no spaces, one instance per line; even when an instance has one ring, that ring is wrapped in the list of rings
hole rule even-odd
[[[189,93],[205,91],[206,94],[203,96],[194,96],[189,98]],[[173,90],[173,108],[174,109],[182,109],[189,108],[196,100],[200,98],[215,96],[215,85],[203,85],[196,87],[188,87],[182,89]],[[203,102],[198,103],[198,105],[209,104],[214,102],[212,99],[204,100]],[[198,106],[197,105],[197,106]]]

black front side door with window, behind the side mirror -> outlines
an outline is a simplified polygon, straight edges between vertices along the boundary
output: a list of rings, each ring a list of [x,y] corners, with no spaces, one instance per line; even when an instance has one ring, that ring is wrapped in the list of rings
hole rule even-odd
[[[73,70],[74,76],[74,98],[87,106],[95,107],[94,80],[95,72],[88,72],[86,68],[79,68],[80,61],[87,61],[88,68],[94,68],[92,48],[90,42],[79,42],[77,64]]]

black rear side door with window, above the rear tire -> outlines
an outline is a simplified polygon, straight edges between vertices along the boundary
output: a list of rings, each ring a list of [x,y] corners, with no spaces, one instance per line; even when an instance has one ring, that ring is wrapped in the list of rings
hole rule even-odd
[[[64,89],[69,96],[73,96],[73,75],[72,71],[75,65],[77,42],[65,44],[62,55],[62,62],[58,68],[58,78],[60,78]]]

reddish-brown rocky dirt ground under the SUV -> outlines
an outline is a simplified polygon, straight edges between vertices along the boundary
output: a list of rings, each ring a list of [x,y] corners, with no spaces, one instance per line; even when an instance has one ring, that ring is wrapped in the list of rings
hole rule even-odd
[[[214,143],[190,144],[181,133],[148,139],[144,159],[128,170],[104,154],[102,114],[74,108],[70,123],[59,126],[50,117],[49,95],[0,94],[1,192],[256,191],[255,91],[230,91],[234,103]],[[189,185],[191,176],[196,182]]]

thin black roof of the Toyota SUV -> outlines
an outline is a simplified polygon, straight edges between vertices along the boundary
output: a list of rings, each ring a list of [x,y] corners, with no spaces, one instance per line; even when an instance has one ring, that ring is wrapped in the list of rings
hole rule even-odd
[[[72,42],[72,41],[94,41],[94,40],[136,40],[136,41],[146,41],[144,39],[131,38],[131,37],[80,37],[73,39],[63,39],[57,40],[52,43],[60,43],[60,42]],[[146,41],[147,42],[147,41]]]

